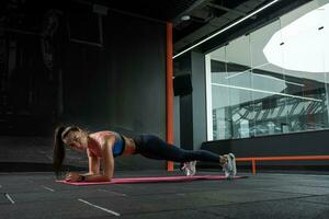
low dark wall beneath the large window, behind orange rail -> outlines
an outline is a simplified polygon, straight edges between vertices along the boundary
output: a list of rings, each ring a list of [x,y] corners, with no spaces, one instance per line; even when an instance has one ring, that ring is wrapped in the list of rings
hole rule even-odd
[[[246,157],[284,157],[284,155],[328,155],[329,130],[274,135],[236,140],[208,141],[203,149],[218,154],[234,152],[237,158]],[[328,161],[284,161],[264,162],[263,164],[326,164]]]

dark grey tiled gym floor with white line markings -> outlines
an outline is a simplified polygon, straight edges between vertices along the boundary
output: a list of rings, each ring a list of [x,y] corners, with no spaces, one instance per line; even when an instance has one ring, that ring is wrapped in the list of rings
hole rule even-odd
[[[115,177],[181,174],[120,171]],[[239,175],[248,177],[72,186],[50,172],[0,173],[0,218],[329,218],[328,173]]]

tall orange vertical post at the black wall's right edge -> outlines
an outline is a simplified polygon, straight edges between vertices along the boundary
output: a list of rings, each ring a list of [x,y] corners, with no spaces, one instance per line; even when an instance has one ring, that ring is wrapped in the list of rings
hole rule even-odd
[[[173,143],[173,67],[172,67],[172,23],[167,23],[167,80],[166,80],[166,119],[167,142]],[[167,170],[173,171],[173,162],[168,161]]]

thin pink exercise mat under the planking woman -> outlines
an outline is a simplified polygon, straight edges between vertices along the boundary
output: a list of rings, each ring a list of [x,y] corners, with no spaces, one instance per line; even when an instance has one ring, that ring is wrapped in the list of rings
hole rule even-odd
[[[247,176],[235,176],[235,178],[243,178]],[[104,184],[125,184],[125,183],[161,183],[161,182],[189,182],[196,180],[227,180],[224,175],[193,175],[193,176],[152,176],[152,177],[124,177],[112,178],[111,182],[69,182],[57,181],[69,185],[104,185]]]

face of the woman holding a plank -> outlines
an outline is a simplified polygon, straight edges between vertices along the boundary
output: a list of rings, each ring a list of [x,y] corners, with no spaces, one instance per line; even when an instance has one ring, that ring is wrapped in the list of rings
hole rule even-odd
[[[81,130],[70,131],[63,141],[75,150],[86,150],[88,148],[88,135]]]

